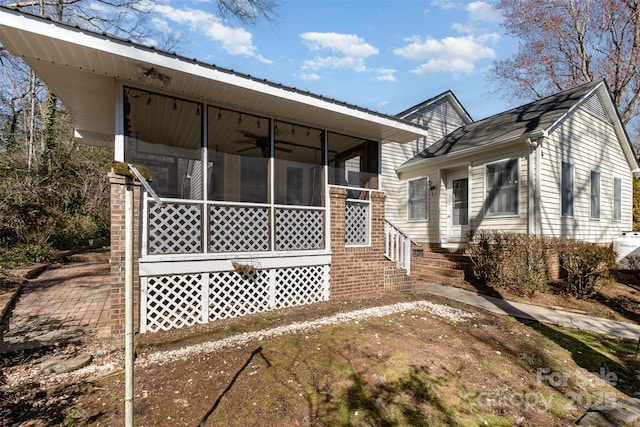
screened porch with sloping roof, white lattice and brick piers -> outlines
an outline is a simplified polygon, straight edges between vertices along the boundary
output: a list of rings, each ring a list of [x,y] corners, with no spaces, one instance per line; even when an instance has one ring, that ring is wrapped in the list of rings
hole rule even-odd
[[[385,257],[381,146],[424,126],[0,8],[0,41],[70,112],[76,136],[145,166],[141,331],[369,295],[408,280]],[[124,331],[124,197],[112,174],[112,332]]]

